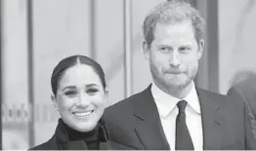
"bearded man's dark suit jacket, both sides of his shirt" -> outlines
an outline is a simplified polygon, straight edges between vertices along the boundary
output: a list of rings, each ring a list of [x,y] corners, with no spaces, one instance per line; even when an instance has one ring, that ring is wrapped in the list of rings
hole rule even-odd
[[[256,149],[242,101],[196,89],[202,116],[203,149]],[[150,86],[106,110],[109,140],[133,149],[169,150]]]

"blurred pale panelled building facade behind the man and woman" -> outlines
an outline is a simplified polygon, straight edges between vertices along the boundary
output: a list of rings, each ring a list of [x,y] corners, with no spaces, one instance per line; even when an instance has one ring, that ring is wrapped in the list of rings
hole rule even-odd
[[[148,87],[151,77],[141,49],[142,23],[149,10],[162,1],[2,0],[3,149],[27,149],[54,133],[59,115],[50,97],[50,77],[63,57],[79,54],[102,64],[107,74],[109,104]],[[207,20],[205,52],[195,83],[226,94],[236,71],[256,70],[256,63],[251,63],[256,60],[254,0],[190,2]],[[128,14],[125,9],[129,9]],[[130,24],[125,23],[127,18]],[[127,27],[131,29],[131,57],[125,61]]]

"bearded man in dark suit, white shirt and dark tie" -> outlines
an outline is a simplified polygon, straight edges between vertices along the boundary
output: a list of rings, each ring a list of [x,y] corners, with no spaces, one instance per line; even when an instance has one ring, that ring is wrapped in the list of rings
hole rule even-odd
[[[244,104],[194,86],[203,19],[185,2],[157,6],[144,21],[152,84],[106,110],[109,139],[132,149],[256,149]]]

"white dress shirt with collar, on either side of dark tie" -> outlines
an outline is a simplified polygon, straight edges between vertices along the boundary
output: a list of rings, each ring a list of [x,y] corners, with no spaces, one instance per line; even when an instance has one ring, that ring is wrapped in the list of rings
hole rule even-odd
[[[171,150],[175,150],[176,117],[179,113],[177,103],[181,99],[164,93],[153,83],[151,86],[151,93],[157,106],[160,121],[167,141]],[[185,110],[186,122],[192,136],[193,148],[194,150],[202,150],[203,137],[201,111],[198,95],[195,91],[193,83],[191,92],[183,99],[188,101],[188,105]]]

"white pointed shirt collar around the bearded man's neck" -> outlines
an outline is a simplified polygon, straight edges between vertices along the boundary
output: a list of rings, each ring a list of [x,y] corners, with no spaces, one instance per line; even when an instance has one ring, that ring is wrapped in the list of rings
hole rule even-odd
[[[165,92],[161,91],[154,83],[152,83],[151,86],[151,94],[157,106],[159,115],[163,118],[166,117],[175,108],[178,101],[181,100],[173,95],[166,94]],[[190,105],[196,113],[201,113],[198,95],[193,82],[191,92],[183,99],[188,101],[188,105]]]

